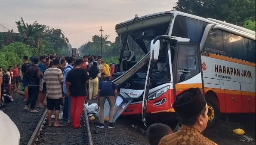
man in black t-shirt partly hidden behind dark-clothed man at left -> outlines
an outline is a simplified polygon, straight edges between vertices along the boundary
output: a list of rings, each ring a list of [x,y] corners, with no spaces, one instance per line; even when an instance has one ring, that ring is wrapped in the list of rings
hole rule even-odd
[[[27,71],[28,67],[31,66],[30,63],[28,63],[28,56],[23,56],[23,65],[22,65],[22,86],[24,86],[24,92],[25,92],[25,96],[24,96],[24,100],[27,101],[28,99],[28,79],[24,78],[24,74]]]

